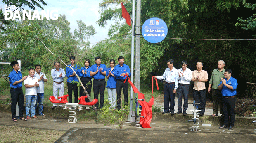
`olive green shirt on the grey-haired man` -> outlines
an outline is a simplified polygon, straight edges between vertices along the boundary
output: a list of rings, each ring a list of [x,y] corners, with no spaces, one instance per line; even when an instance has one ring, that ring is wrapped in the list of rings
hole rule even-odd
[[[220,84],[221,77],[224,78],[224,71],[223,69],[221,72],[219,69],[214,69],[213,72],[211,73],[211,79],[209,81],[209,84],[212,84],[212,89],[218,89],[218,85]]]

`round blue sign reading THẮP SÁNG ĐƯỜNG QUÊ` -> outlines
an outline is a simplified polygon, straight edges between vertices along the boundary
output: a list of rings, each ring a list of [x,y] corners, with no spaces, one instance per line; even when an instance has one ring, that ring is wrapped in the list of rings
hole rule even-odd
[[[144,22],[141,33],[147,42],[159,43],[165,39],[168,27],[164,20],[153,17]]]

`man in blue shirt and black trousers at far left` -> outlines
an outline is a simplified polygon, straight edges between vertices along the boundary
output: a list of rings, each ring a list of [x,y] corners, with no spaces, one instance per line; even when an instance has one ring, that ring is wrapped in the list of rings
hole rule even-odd
[[[9,74],[10,81],[10,94],[12,98],[12,121],[16,122],[16,104],[18,102],[19,106],[19,117],[23,121],[27,121],[23,115],[23,103],[24,103],[24,94],[22,91],[22,82],[27,79],[28,76],[22,77],[21,72],[19,71],[19,63],[17,61],[11,62],[10,66],[13,68],[12,72]]]

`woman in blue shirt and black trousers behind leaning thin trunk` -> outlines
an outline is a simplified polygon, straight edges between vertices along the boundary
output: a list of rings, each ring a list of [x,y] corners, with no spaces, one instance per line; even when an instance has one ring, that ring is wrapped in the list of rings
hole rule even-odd
[[[91,96],[92,76],[90,76],[90,68],[91,68],[90,60],[86,59],[84,64],[85,64],[85,66],[80,69],[78,76],[81,77],[80,80],[83,83],[83,86],[86,88],[86,91]],[[86,84],[87,84],[87,87],[86,87]],[[83,94],[83,91],[84,91],[83,87],[80,86],[79,87],[79,97],[85,96],[85,94]],[[88,98],[85,98],[85,101],[90,102]],[[86,109],[88,109],[88,107],[86,107]]]

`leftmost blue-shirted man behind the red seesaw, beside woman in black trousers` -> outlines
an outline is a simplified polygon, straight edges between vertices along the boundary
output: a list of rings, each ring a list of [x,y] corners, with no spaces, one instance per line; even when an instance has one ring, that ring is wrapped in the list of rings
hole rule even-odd
[[[70,56],[69,57],[71,64],[69,64],[69,67],[72,67],[76,74],[78,74],[78,66],[75,64],[76,62],[76,57],[75,56]],[[76,77],[76,74],[73,72],[73,70],[69,67],[66,67],[66,76],[67,76],[67,92],[68,92],[68,102],[72,103],[72,88],[74,90],[74,98],[75,102],[78,103],[78,87],[77,83],[72,84],[71,81],[77,81],[78,79]]]

